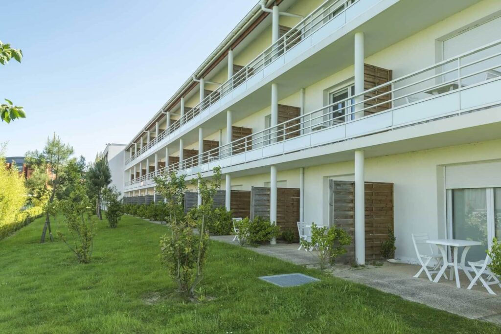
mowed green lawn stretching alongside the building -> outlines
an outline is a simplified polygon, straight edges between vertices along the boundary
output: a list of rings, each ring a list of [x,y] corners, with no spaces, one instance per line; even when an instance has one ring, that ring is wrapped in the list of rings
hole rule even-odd
[[[39,243],[43,219],[0,241],[1,333],[499,332],[239,246],[212,241],[200,293],[179,298],[159,261],[165,226],[125,216],[100,222],[90,264],[60,241]],[[61,219],[53,230],[62,230]],[[322,281],[281,288],[258,276],[302,272]]]

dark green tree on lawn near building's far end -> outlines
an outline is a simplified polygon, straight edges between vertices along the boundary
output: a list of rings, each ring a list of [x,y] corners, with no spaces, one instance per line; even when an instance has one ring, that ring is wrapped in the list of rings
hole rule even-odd
[[[108,160],[98,154],[95,162],[89,165],[86,179],[89,193],[96,199],[96,214],[99,220],[103,220],[101,214],[102,193],[103,189],[111,183],[111,171],[108,166]]]

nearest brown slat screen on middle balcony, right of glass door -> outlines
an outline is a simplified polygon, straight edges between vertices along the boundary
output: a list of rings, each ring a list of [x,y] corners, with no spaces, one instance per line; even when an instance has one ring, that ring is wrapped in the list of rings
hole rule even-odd
[[[379,85],[385,84],[385,83],[391,81],[392,79],[393,79],[393,71],[392,70],[387,70],[387,69],[383,69],[383,68],[376,67],[373,65],[364,64],[364,90],[368,90],[368,89],[377,87]],[[371,100],[367,101],[365,103],[364,107],[367,108],[367,107],[370,107],[370,106],[373,106],[373,105],[376,105],[376,104],[379,104],[379,103],[382,103],[385,101],[389,101],[391,99],[391,93],[382,95],[382,96],[375,98],[375,99],[374,99],[374,97],[377,95],[386,93],[386,92],[390,92],[390,90],[391,90],[391,86],[388,85],[388,86],[381,87],[380,89],[378,89],[374,92],[370,92],[370,93],[365,94],[365,96],[364,96],[365,100],[367,100],[367,99],[371,99]],[[374,113],[378,113],[380,111],[388,110],[390,108],[391,108],[391,102],[383,103],[379,106],[366,109],[364,114],[365,114],[365,116],[367,116],[367,115],[371,115]]]

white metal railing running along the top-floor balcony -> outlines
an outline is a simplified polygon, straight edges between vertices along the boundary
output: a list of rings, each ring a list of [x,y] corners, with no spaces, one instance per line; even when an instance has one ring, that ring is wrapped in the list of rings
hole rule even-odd
[[[298,43],[307,37],[314,34],[320,28],[331,22],[335,18],[345,15],[346,10],[359,0],[327,0],[310,15],[305,17],[296,26],[291,28],[277,42],[268,47],[258,57],[250,61],[245,67],[240,69],[231,78],[219,86],[216,90],[206,96],[199,104],[184,113],[182,117],[174,121],[168,129],[162,132],[161,135],[150,141],[138,150],[132,157],[125,161],[126,164],[138,158],[141,154],[148,151],[151,147],[165,139],[169,134],[179,129],[182,125],[192,120],[200,114],[201,111],[207,109],[212,104],[219,101],[224,96],[231,93],[235,88],[245,83],[254,74],[263,70],[267,65],[271,64],[275,59],[281,57],[289,50],[294,48]],[[346,24],[346,17],[344,17]],[[182,111],[184,112],[184,111]]]

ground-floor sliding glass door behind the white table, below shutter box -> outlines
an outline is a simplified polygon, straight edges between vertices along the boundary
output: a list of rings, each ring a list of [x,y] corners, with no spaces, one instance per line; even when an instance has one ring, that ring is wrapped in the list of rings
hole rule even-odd
[[[482,243],[466,261],[483,260],[492,238],[501,236],[501,188],[448,189],[447,221],[449,237]]]

